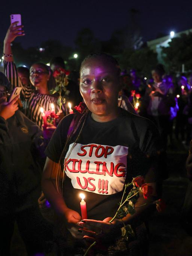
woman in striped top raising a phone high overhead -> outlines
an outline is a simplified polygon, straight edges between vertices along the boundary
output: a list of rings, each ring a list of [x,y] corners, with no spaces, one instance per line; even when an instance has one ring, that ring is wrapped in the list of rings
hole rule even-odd
[[[51,73],[49,72],[48,66],[43,63],[35,63],[30,67],[30,81],[36,90],[24,86],[21,79],[19,79],[15,63],[13,62],[11,42],[13,42],[17,36],[24,36],[25,34],[23,30],[21,31],[23,26],[15,27],[16,24],[17,22],[14,22],[10,25],[4,39],[4,73],[9,79],[12,88],[15,86],[22,87],[21,98],[25,100],[25,102],[22,102],[24,113],[31,121],[42,128],[43,119],[42,112],[40,112],[41,107],[43,107],[44,111],[48,111],[51,110],[51,103],[53,103],[55,112],[57,112],[58,115],[60,115],[62,111],[59,111],[57,104],[58,96],[49,93],[52,85],[50,84]],[[63,117],[63,115],[60,117]],[[58,121],[59,120],[60,118]]]

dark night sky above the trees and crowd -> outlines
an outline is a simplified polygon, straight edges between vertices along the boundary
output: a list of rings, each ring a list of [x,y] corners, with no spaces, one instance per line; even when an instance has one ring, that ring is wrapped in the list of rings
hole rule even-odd
[[[89,27],[95,37],[108,40],[112,32],[130,24],[130,9],[137,9],[137,23],[143,40],[155,39],[159,33],[169,34],[192,28],[192,1],[154,0],[82,0],[82,1],[3,1],[1,4],[0,42],[10,24],[10,14],[20,13],[25,36],[22,46],[40,46],[48,39],[74,46],[81,28]]]

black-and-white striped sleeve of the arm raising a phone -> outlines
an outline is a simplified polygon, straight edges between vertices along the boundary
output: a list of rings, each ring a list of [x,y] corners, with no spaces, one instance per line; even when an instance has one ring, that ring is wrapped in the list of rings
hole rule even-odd
[[[31,87],[30,86],[23,86],[21,80],[18,77],[16,65],[14,62],[3,61],[4,65],[4,74],[6,75],[7,79],[11,84],[11,90],[16,86],[22,87],[21,94],[27,100],[31,95]]]

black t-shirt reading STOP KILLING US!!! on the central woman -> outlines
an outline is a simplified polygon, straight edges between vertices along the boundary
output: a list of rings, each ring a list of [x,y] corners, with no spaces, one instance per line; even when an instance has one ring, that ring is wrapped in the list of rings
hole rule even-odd
[[[73,116],[60,122],[46,149],[54,162],[59,162]],[[115,215],[124,184],[133,177],[143,175],[148,183],[157,181],[159,132],[148,119],[123,109],[118,118],[104,123],[94,121],[89,112],[70,150],[81,127],[65,155],[63,196],[67,206],[81,214],[79,194],[84,193],[88,218],[103,220]]]

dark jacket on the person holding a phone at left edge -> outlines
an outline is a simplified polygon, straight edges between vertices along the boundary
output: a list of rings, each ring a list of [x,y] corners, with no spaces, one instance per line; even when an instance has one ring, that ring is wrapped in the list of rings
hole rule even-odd
[[[42,130],[21,111],[0,117],[0,215],[37,204],[45,144]]]

